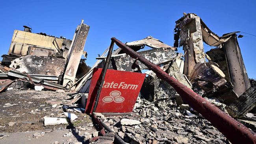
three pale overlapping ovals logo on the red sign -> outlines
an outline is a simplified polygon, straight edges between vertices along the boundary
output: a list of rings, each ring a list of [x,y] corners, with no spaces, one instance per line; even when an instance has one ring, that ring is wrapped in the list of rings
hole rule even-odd
[[[115,102],[115,103],[121,103],[124,102],[124,97],[121,96],[121,92],[118,90],[111,91],[109,93],[110,96],[105,96],[102,101],[105,103]]]

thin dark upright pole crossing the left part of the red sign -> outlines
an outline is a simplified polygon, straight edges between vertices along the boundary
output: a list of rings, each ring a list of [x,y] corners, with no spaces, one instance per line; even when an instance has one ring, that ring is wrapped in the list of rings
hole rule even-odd
[[[108,55],[107,55],[107,58],[106,58],[106,61],[105,61],[105,64],[104,64],[104,68],[103,68],[103,70],[100,74],[101,78],[98,79],[98,82],[97,82],[98,85],[96,85],[96,87],[98,87],[98,90],[97,90],[97,95],[96,95],[94,106],[93,106],[93,113],[96,111],[96,107],[98,105],[98,100],[100,98],[100,92],[101,92],[103,81],[104,81],[104,78],[105,78],[105,75],[106,75],[106,72],[107,72],[107,69],[108,69],[108,64],[109,64],[109,61],[110,61],[110,57],[112,55],[114,44],[115,43],[113,41],[111,41],[111,44],[110,44],[109,50],[108,50]]]

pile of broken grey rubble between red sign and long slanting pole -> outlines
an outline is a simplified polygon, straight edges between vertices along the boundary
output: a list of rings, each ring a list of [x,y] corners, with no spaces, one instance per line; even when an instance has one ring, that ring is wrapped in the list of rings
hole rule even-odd
[[[192,114],[188,105],[176,106],[175,100],[167,100],[165,107],[138,99],[144,112],[127,116],[108,116],[100,119],[131,144],[159,143],[226,144],[228,140],[208,120]],[[191,112],[192,113],[191,113]]]

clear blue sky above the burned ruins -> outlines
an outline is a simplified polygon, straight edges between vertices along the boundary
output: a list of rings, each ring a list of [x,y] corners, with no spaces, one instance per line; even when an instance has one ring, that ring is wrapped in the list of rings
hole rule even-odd
[[[175,21],[183,12],[196,13],[220,36],[232,31],[256,35],[255,9],[254,0],[0,0],[0,54],[7,54],[13,31],[23,30],[23,25],[34,33],[72,39],[84,19],[91,26],[85,50],[92,66],[111,37],[129,42],[151,35],[173,46]],[[256,78],[256,37],[245,33],[238,41],[249,78]]]

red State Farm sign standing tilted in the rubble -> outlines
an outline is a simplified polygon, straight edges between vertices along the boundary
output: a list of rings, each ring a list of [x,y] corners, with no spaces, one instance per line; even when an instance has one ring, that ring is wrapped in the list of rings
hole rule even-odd
[[[93,70],[86,113],[92,113],[97,94],[96,83],[102,68]],[[96,113],[128,113],[132,112],[146,74],[107,70],[100,92]]]

